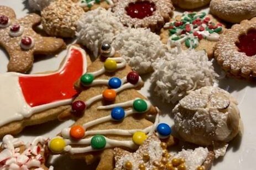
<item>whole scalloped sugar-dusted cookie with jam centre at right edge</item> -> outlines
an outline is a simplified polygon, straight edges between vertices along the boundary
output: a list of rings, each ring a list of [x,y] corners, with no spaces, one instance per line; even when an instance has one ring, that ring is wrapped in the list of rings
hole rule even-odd
[[[216,45],[215,58],[230,76],[256,77],[256,18],[235,24]]]

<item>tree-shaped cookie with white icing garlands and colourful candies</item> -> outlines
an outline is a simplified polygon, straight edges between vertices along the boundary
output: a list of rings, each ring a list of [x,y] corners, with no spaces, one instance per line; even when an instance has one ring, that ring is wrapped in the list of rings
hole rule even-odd
[[[135,150],[155,131],[173,145],[170,126],[159,124],[158,109],[136,91],[143,86],[142,78],[109,44],[102,45],[101,54],[77,82],[83,91],[72,110],[59,116],[72,116],[76,123],[49,141],[50,150],[89,164],[100,159],[97,169],[113,169],[114,147]],[[145,119],[148,115],[156,115],[154,123]]]

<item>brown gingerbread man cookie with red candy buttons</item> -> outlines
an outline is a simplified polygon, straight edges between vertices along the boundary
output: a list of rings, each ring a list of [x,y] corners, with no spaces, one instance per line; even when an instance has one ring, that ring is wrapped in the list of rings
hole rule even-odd
[[[65,48],[62,39],[35,33],[32,27],[39,23],[39,15],[16,19],[13,9],[0,6],[0,45],[9,54],[8,71],[25,73],[33,66],[34,54],[53,54]]]

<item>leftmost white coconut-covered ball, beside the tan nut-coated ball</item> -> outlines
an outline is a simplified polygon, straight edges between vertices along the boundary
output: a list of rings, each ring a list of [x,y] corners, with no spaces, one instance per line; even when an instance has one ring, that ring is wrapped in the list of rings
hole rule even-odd
[[[77,22],[77,41],[98,56],[103,43],[110,44],[124,26],[110,10],[97,8],[83,14]]]

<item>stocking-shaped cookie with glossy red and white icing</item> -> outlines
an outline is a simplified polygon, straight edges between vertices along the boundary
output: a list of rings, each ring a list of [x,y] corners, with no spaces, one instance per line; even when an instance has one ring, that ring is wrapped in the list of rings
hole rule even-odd
[[[56,72],[0,74],[0,136],[17,134],[25,126],[56,119],[78,94],[74,83],[86,68],[85,52],[70,46]]]

